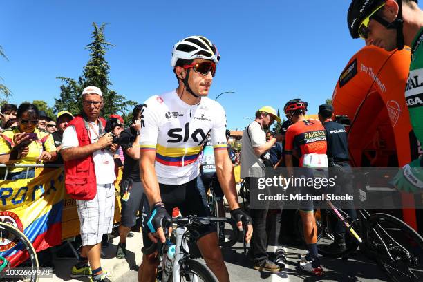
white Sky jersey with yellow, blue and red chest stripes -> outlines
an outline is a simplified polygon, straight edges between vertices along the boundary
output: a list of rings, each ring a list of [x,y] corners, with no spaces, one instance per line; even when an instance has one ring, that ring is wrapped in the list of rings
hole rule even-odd
[[[214,149],[227,150],[225,111],[207,97],[189,105],[176,91],[152,96],[141,118],[140,149],[156,151],[159,183],[181,185],[198,176],[198,156],[209,132]]]

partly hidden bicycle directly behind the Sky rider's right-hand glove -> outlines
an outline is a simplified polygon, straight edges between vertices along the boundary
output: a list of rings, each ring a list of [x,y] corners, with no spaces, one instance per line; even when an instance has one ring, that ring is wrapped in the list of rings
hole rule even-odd
[[[232,247],[238,241],[239,230],[236,226],[236,222],[232,218],[226,218],[225,214],[221,215],[219,213],[218,200],[216,199],[216,194],[214,193],[213,188],[216,181],[218,181],[218,179],[213,178],[210,184],[209,194],[207,194],[207,200],[209,203],[210,212],[212,212],[212,216],[226,219],[222,222],[216,222],[220,247]]]

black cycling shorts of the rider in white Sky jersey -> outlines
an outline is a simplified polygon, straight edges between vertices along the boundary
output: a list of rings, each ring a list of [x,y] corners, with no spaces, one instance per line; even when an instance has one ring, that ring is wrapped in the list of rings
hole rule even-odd
[[[201,181],[200,177],[182,185],[167,185],[159,183],[159,187],[162,202],[164,203],[164,207],[170,216],[172,215],[173,208],[175,207],[179,208],[182,216],[212,216],[207,203],[203,181]],[[142,216],[142,240],[144,241],[144,247],[142,248],[143,252],[153,243],[148,236],[149,232],[151,232],[147,226],[149,218],[150,214],[147,214],[146,216],[143,214]],[[212,224],[201,227],[197,229],[197,231],[200,237],[202,237],[209,233],[216,232],[216,225]],[[146,253],[144,252],[144,254]]]

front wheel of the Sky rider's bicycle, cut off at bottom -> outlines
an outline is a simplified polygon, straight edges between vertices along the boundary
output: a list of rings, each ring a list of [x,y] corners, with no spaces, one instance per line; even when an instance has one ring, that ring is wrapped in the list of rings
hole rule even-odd
[[[172,282],[173,276],[170,275],[167,282]],[[180,269],[180,281],[181,282],[218,282],[214,274],[209,267],[203,265],[195,259],[187,259],[183,267]]]

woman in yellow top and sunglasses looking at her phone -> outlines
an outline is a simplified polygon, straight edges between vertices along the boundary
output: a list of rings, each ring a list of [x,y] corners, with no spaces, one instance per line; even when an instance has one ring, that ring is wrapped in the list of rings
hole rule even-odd
[[[17,110],[18,126],[5,129],[0,138],[0,163],[2,164],[37,164],[49,162],[56,156],[53,137],[50,133],[37,129],[38,109],[33,104],[21,104]],[[8,179],[32,178],[35,169],[17,167],[12,169]]]

